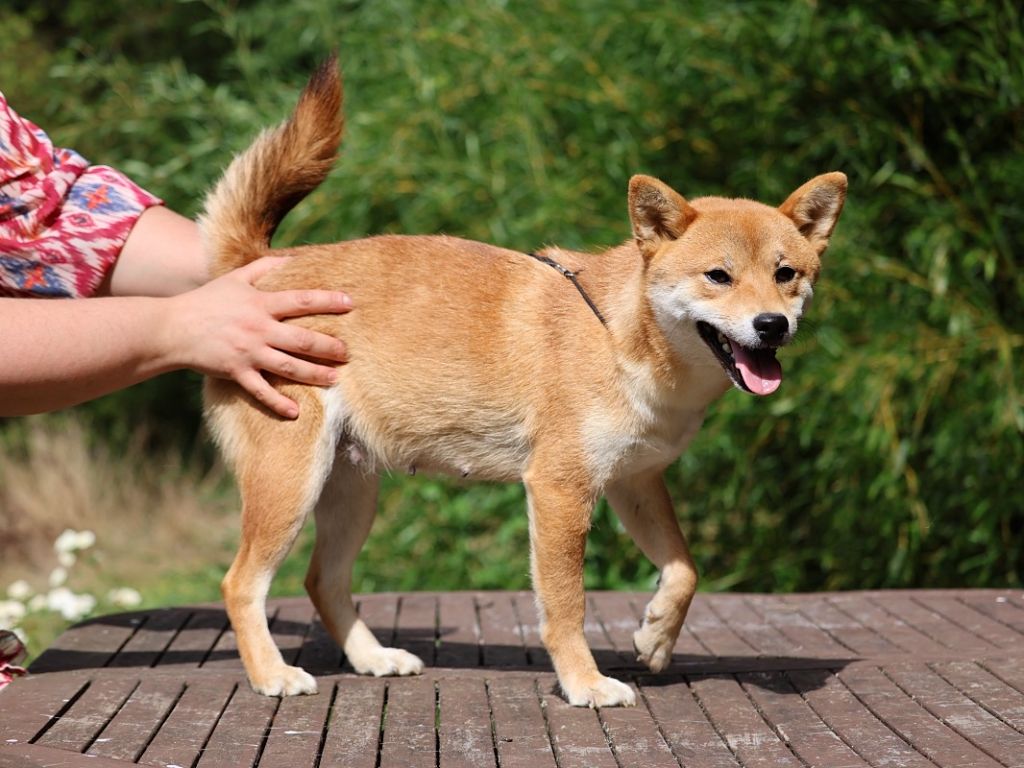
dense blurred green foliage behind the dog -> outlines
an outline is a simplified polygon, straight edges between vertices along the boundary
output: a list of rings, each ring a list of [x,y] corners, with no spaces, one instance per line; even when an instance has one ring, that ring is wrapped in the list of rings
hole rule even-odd
[[[670,471],[705,584],[1022,584],[1018,4],[162,6],[17,2],[0,11],[0,83],[56,140],[193,213],[337,49],[344,154],[281,243],[444,231],[594,248],[628,236],[632,173],[781,201],[846,171],[781,391],[727,395]],[[170,382],[92,408],[182,419],[187,435],[195,382]],[[524,586],[521,506],[517,488],[392,478],[358,584]],[[602,507],[588,582],[652,575]]]

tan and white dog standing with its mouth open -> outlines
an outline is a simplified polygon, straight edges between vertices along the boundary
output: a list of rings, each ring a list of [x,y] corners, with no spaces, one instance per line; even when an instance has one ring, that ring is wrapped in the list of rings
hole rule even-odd
[[[233,161],[203,217],[214,273],[265,255],[280,220],[326,177],[340,102],[332,59],[292,118]],[[584,639],[595,502],[607,497],[660,569],[634,636],[639,658],[660,671],[697,583],[663,471],[730,381],[758,394],[778,386],[775,349],[797,329],[845,195],[842,173],[813,178],[779,208],[687,202],[635,176],[633,241],[600,254],[545,252],[579,273],[579,291],[527,254],[447,237],[275,251],[291,259],[260,288],[344,290],[355,309],[295,321],[343,339],[351,357],[328,389],[275,381],[300,403],[296,421],[231,382],[207,381],[209,423],[242,493],[242,543],[223,593],[253,688],[316,690],[284,663],[264,613],[270,580],[311,510],[306,589],[352,667],[422,671],[416,656],[378,643],[350,592],[377,473],[416,467],[525,483],[541,636],[565,696],[633,705],[633,690],[598,672]]]

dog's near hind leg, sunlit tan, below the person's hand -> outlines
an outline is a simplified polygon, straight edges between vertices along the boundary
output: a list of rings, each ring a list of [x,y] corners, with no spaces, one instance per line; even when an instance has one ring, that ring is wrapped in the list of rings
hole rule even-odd
[[[319,493],[323,462],[329,460],[315,406],[305,399],[300,407],[308,416],[293,422],[248,424],[251,439],[237,472],[242,539],[221,592],[249,682],[268,696],[316,692],[311,676],[285,664],[266,623],[270,580]]]

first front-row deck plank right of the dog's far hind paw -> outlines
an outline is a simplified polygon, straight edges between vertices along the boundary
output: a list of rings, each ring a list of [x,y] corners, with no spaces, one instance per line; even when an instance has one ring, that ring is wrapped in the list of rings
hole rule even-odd
[[[438,682],[438,705],[440,765],[444,768],[495,766],[495,743],[483,680],[441,679]]]

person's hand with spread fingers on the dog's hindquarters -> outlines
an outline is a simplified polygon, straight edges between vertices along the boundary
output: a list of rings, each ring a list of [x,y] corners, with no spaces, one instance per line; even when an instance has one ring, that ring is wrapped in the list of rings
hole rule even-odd
[[[168,302],[167,349],[178,365],[208,376],[233,379],[266,408],[286,419],[298,404],[263,378],[329,386],[332,366],[303,357],[345,362],[345,345],[327,334],[282,323],[286,317],[347,312],[351,300],[333,291],[260,291],[254,283],[287,257],[267,256],[180,294]],[[302,355],[302,357],[296,356]]]

